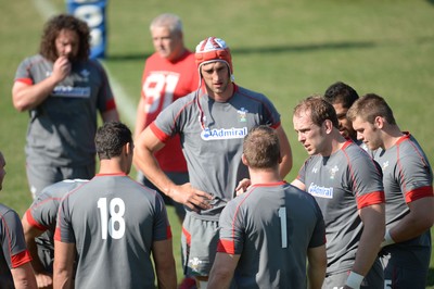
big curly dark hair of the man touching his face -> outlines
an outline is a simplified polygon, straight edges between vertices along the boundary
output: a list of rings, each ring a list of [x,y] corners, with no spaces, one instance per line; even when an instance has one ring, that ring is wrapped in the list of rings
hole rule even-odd
[[[62,29],[77,33],[79,43],[76,59],[80,61],[87,60],[90,52],[89,27],[86,22],[68,14],[60,14],[47,22],[40,42],[39,53],[53,62],[59,58],[55,49],[55,39]]]

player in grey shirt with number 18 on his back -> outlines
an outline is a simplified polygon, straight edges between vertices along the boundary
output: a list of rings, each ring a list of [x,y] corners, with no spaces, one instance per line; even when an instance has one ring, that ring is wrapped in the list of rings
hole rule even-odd
[[[54,235],[54,288],[176,288],[171,231],[162,197],[128,177],[133,142],[118,122],[97,130],[100,172],[67,193]],[[153,262],[151,261],[151,253]]]

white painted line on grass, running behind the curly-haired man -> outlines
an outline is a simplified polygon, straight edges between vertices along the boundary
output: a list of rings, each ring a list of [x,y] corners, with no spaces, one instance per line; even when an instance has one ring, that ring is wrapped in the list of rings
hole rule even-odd
[[[33,2],[35,8],[38,10],[39,14],[46,20],[60,13],[50,0],[33,0]],[[113,93],[116,97],[116,104],[117,109],[119,110],[119,114],[124,118],[123,121],[126,122],[132,128],[133,125],[136,124],[136,111],[137,111],[136,105],[131,102],[132,98],[130,98],[127,95],[124,87],[116,80],[115,77],[113,77],[105,63],[103,61],[100,62],[103,64],[107,73],[110,84],[113,89]]]

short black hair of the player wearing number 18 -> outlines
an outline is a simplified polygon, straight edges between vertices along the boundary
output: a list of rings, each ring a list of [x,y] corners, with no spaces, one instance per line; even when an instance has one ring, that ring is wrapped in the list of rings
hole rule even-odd
[[[120,155],[125,144],[132,144],[132,135],[125,124],[107,122],[97,129],[94,141],[100,160],[110,160]]]

